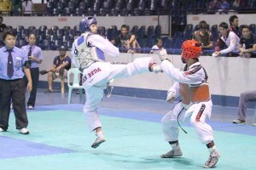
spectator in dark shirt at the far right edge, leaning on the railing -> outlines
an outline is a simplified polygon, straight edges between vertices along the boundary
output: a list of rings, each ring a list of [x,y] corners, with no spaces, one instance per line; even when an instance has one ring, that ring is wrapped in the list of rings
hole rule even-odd
[[[256,35],[252,34],[249,26],[241,29],[241,39],[239,42],[239,52],[241,57],[256,58]]]

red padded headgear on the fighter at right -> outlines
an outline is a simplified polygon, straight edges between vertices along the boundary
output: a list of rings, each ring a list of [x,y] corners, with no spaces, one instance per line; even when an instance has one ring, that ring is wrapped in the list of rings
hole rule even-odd
[[[182,57],[186,61],[188,61],[188,59],[197,59],[201,55],[201,42],[186,40],[183,42],[182,48]]]

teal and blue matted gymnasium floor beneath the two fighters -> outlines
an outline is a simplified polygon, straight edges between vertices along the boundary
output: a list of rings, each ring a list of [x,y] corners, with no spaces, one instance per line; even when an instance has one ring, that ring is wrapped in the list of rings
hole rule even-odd
[[[183,156],[160,158],[170,150],[160,119],[172,105],[157,99],[104,98],[99,113],[107,142],[91,149],[96,136],[87,130],[79,95],[72,99],[73,104],[67,105],[67,93],[44,94],[38,89],[35,110],[27,111],[29,135],[17,133],[12,112],[8,132],[0,133],[0,169],[201,169],[207,161],[207,148],[189,123],[183,124],[187,134],[180,131]],[[215,169],[256,169],[253,110],[247,111],[247,125],[231,123],[236,112],[237,108],[213,106],[207,121],[222,154]]]

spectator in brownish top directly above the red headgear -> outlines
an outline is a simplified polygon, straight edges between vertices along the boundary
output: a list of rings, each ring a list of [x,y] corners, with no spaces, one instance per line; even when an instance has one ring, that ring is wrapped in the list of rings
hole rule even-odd
[[[192,35],[192,39],[201,42],[202,49],[210,49],[213,47],[212,32],[207,30],[207,22],[202,20],[199,25],[199,30],[195,31]]]

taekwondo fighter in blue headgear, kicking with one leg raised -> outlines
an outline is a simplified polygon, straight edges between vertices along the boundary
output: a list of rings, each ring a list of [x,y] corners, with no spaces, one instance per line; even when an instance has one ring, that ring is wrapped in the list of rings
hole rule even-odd
[[[89,130],[96,133],[96,141],[91,144],[92,148],[96,148],[106,141],[102,132],[102,122],[97,112],[104,95],[103,90],[114,78],[132,77],[150,72],[148,65],[152,62],[151,58],[135,59],[127,65],[107,62],[104,55],[119,57],[119,48],[113,46],[108,39],[96,34],[96,25],[97,20],[93,16],[81,20],[79,29],[83,33],[73,42],[72,49],[73,65],[83,71],[86,122]]]

